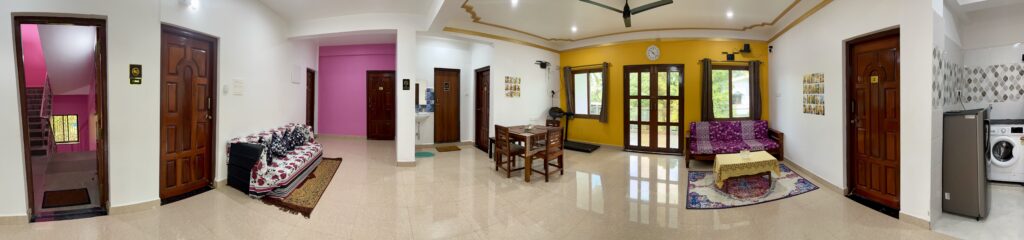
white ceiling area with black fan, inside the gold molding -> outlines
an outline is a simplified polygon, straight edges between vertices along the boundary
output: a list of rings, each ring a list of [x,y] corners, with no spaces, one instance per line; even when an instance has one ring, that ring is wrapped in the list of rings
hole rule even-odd
[[[595,0],[622,8],[626,0]],[[655,0],[631,0],[636,8]],[[516,2],[516,4],[513,4]],[[480,22],[507,27],[547,39],[581,39],[630,31],[659,29],[736,29],[773,22],[798,0],[675,0],[674,3],[632,16],[626,28],[622,13],[577,0],[469,0]],[[812,5],[819,1],[802,1]],[[806,9],[806,8],[801,8]],[[727,17],[726,12],[733,12]],[[465,21],[470,14],[465,13]],[[800,15],[792,10],[787,15]],[[795,18],[795,17],[787,17]],[[570,30],[578,28],[577,33]],[[774,32],[782,24],[762,26],[756,31]]]

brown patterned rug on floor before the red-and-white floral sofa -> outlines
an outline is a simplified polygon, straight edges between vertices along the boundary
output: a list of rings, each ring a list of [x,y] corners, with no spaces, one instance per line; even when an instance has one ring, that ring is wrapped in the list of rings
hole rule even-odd
[[[263,203],[278,206],[282,210],[302,214],[309,218],[321,196],[331,185],[335,172],[341,167],[341,158],[324,158],[316,169],[298,188],[285,198],[264,197]]]

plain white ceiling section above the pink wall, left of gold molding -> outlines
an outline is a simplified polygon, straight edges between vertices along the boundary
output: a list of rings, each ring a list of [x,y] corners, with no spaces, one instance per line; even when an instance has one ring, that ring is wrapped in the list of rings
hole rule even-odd
[[[293,22],[360,13],[423,14],[429,0],[260,0]]]

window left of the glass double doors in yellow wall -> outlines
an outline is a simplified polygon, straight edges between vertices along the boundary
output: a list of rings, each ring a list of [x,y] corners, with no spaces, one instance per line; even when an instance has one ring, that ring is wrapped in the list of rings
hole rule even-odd
[[[572,95],[577,117],[601,115],[604,95],[604,73],[601,69],[572,71]]]

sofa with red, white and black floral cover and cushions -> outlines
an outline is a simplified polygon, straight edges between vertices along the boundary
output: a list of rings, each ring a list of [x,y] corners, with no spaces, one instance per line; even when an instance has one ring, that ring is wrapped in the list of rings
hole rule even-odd
[[[299,133],[296,133],[295,138],[290,139],[292,141],[291,146],[274,145],[275,137],[291,135],[295,131]],[[251,154],[239,154],[241,151],[238,150],[233,152],[237,156],[232,156],[232,146],[242,144],[251,144],[246,146],[247,148],[259,146],[256,149],[262,153],[256,154],[256,156],[259,156],[260,159],[249,160],[252,158]],[[228,185],[243,190],[253,198],[287,197],[316,168],[322,160],[323,152],[324,147],[316,143],[311,128],[305,124],[291,123],[232,138],[227,145]]]

